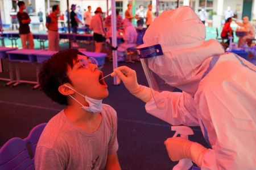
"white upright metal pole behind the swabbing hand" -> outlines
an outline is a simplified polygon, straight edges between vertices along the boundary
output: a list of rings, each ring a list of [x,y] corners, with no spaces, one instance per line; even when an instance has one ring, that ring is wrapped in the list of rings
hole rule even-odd
[[[113,70],[118,67],[117,63],[117,16],[115,14],[115,1],[111,1],[111,28],[112,28],[112,55],[113,55]],[[114,77],[114,85],[118,85],[117,77]]]

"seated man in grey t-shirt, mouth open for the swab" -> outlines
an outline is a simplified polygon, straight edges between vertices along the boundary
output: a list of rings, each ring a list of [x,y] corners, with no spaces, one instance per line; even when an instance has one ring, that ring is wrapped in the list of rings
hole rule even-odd
[[[76,49],[59,51],[39,76],[44,93],[66,106],[40,136],[35,169],[121,169],[117,114],[102,104],[109,92],[97,61]]]

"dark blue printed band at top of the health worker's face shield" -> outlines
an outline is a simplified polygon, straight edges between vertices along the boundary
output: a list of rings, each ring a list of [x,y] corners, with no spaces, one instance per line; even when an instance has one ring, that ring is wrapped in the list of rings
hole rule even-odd
[[[156,45],[152,45],[144,48],[137,48],[137,51],[141,59],[163,55],[163,51],[160,44],[156,44]]]

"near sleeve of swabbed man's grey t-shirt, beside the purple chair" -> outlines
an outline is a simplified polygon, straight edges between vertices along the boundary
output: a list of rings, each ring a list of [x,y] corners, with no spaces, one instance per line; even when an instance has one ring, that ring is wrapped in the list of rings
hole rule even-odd
[[[35,154],[35,169],[65,169],[63,159],[52,149],[37,147]]]

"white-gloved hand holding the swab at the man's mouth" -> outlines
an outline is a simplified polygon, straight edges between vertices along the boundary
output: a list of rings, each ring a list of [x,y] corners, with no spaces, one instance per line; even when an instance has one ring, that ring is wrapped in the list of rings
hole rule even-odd
[[[121,66],[114,69],[114,73],[123,81],[126,89],[129,90],[131,94],[144,102],[150,101],[152,98],[151,89],[138,84],[136,72],[133,69]]]

